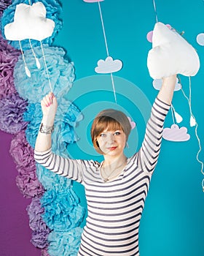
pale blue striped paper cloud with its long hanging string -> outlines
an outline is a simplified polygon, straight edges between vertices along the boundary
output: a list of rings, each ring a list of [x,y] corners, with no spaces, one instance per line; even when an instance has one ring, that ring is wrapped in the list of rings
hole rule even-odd
[[[112,88],[114,91],[114,101],[117,104],[117,96],[116,96],[116,90],[115,90],[115,86],[114,86],[114,77],[113,74],[114,72],[118,72],[120,69],[122,69],[122,61],[119,59],[114,60],[110,55],[109,55],[109,47],[108,47],[108,42],[106,39],[106,31],[105,31],[105,26],[103,23],[103,15],[102,15],[102,11],[101,11],[101,4],[100,1],[103,0],[83,0],[87,3],[95,3],[98,2],[98,9],[100,12],[100,18],[101,18],[101,25],[102,25],[102,29],[103,29],[103,37],[104,37],[104,41],[105,41],[105,45],[106,45],[106,54],[107,57],[105,60],[100,59],[98,61],[98,66],[95,67],[95,72],[99,73],[99,74],[110,74],[111,75],[111,83],[112,83]]]

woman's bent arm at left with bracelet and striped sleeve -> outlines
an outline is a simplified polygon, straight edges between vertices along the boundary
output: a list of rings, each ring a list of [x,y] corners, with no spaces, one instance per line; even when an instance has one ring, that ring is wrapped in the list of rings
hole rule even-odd
[[[50,92],[42,99],[42,124],[36,138],[35,154],[36,162],[74,181],[82,183],[82,169],[85,167],[82,160],[68,159],[52,153],[52,129],[55,121],[55,114],[58,102],[54,94]]]

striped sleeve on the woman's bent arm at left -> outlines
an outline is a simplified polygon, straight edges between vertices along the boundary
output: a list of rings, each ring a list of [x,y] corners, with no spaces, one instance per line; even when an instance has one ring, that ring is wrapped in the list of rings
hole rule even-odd
[[[53,173],[82,183],[82,168],[85,166],[82,160],[67,159],[53,154],[51,148],[47,151],[34,151],[36,162]]]

